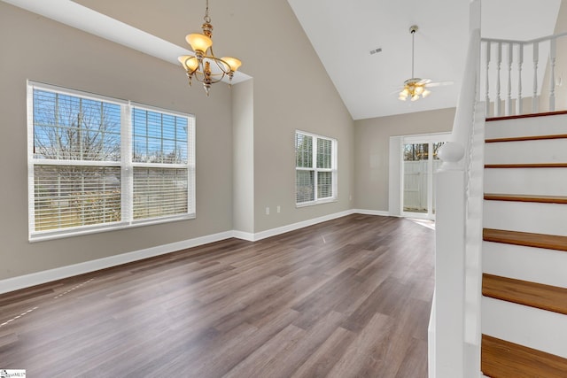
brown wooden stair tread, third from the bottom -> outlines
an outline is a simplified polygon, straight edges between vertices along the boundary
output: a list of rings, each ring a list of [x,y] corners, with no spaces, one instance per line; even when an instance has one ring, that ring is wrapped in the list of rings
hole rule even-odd
[[[567,251],[567,236],[532,234],[520,231],[484,228],[485,242],[524,245],[527,247],[546,248],[548,250]]]

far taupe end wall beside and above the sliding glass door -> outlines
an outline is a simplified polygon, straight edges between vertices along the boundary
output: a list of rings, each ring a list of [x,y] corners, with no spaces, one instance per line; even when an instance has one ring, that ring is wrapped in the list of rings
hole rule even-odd
[[[355,121],[354,207],[388,211],[391,136],[449,132],[453,128],[453,120],[454,108]]]

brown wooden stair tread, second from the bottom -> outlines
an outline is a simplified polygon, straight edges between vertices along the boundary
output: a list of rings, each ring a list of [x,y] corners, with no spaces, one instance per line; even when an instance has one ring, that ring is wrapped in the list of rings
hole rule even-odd
[[[567,315],[565,288],[483,274],[482,295]]]

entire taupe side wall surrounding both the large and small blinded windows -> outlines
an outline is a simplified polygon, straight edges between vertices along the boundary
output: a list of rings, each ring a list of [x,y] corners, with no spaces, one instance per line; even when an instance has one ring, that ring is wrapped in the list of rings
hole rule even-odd
[[[200,10],[181,2],[144,4],[146,11],[134,0],[81,3],[134,27],[159,24],[147,31],[183,46],[184,35],[202,22]],[[169,5],[188,12],[165,20],[151,9]],[[353,120],[289,4],[220,0],[211,12],[215,51],[241,58],[253,81],[234,92],[217,84],[207,98],[198,86],[187,87],[179,66],[0,2],[0,280],[232,229],[257,233],[353,207]],[[27,79],[195,113],[197,219],[28,243]],[[245,135],[236,135],[243,125]],[[296,129],[338,139],[336,203],[295,208]],[[234,179],[241,170],[248,175]]]

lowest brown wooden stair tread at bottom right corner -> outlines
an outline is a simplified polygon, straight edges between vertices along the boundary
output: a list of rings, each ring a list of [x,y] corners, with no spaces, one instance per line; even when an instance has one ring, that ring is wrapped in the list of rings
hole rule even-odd
[[[481,347],[483,374],[490,377],[564,378],[567,359],[517,343],[483,335]]]

